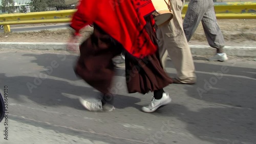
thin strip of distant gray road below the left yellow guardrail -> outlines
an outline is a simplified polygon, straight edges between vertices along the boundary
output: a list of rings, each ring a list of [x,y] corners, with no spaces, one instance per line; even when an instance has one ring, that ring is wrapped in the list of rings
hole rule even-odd
[[[66,29],[68,28],[68,24],[66,25],[54,25],[54,26],[26,26],[26,27],[16,27],[11,26],[12,32],[36,32],[36,31],[42,31],[42,30],[56,30],[56,29]],[[4,29],[0,30],[0,33],[3,33]]]

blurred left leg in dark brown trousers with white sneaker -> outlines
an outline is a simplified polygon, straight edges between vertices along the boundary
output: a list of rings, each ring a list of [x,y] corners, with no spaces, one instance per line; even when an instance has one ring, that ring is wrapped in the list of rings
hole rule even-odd
[[[110,36],[94,29],[90,38],[80,46],[80,57],[75,67],[75,73],[89,85],[102,93],[102,98],[96,102],[80,99],[82,105],[90,111],[112,111],[113,95],[109,91],[114,76],[112,58],[121,53],[108,41]],[[108,107],[107,107],[108,106]]]

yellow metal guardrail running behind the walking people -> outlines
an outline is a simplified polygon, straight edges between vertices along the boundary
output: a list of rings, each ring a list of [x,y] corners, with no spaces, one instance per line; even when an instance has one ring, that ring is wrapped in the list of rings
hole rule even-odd
[[[185,5],[183,8],[183,18],[187,11],[187,6]],[[63,10],[2,14],[0,15],[0,25],[4,25],[5,33],[9,33],[11,32],[10,25],[70,22],[75,11]],[[215,12],[217,19],[256,19],[256,1],[215,3]]]

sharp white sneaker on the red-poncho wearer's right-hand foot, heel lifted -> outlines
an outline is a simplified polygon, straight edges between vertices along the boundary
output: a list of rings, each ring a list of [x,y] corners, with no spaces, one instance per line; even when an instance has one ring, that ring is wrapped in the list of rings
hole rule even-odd
[[[168,92],[163,93],[163,97],[159,100],[156,100],[153,96],[151,103],[148,106],[142,107],[143,112],[154,112],[156,111],[159,107],[165,106],[172,102],[172,99],[169,97]]]

